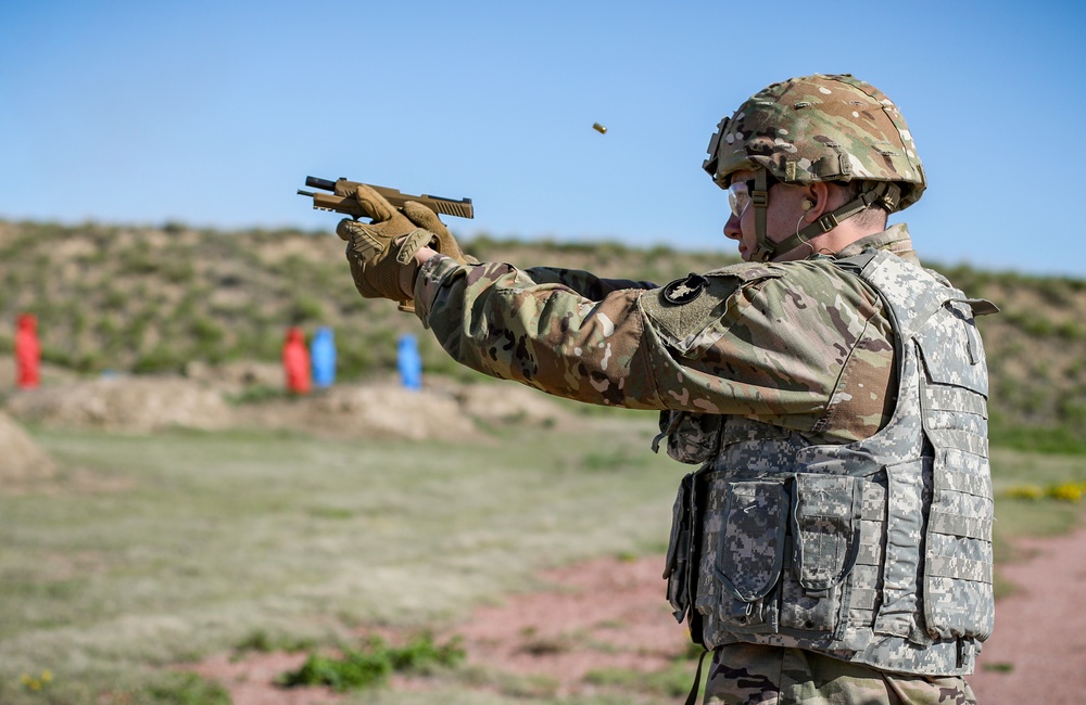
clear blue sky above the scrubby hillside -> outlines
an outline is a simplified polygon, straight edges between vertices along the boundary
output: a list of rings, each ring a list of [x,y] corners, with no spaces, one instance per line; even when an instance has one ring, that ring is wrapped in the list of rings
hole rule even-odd
[[[5,3],[0,218],[330,231],[294,191],[345,176],[471,197],[466,236],[732,253],[716,124],[847,72],[912,129],[925,260],[1086,278],[1084,30],[1045,0]]]

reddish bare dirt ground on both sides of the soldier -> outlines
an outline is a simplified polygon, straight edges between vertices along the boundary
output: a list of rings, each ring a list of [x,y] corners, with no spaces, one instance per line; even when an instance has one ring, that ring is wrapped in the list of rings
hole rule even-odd
[[[1018,590],[1000,600],[996,632],[969,678],[980,705],[1078,705],[1086,692],[1086,611],[1077,598],[1086,581],[1086,529],[1055,539],[1023,540],[1024,560],[1001,569]],[[592,669],[658,670],[681,654],[686,631],[668,614],[660,559],[601,559],[545,574],[553,589],[510,595],[478,608],[445,634],[465,639],[468,663],[489,671],[539,676],[558,697],[591,692]],[[223,682],[235,705],[332,703],[326,689],[283,690],[276,676],[298,668],[298,654],[229,654],[197,670]],[[693,678],[693,665],[691,678]],[[392,688],[425,689],[421,680]],[[679,698],[677,698],[678,702]]]

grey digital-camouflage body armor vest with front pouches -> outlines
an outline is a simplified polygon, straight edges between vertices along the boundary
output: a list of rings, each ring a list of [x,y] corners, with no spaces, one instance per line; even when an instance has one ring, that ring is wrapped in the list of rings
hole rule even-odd
[[[672,412],[669,452],[704,464],[675,500],[669,600],[710,650],[750,642],[970,674],[994,620],[988,385],[973,308],[995,307],[886,252],[834,265],[887,308],[893,416],[870,438],[816,445],[744,418]]]

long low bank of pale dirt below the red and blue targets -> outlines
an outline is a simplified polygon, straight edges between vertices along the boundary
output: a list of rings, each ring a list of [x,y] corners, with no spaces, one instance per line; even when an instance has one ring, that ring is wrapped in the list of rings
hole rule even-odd
[[[239,401],[254,389],[261,392],[255,400]],[[16,419],[47,425],[131,433],[175,426],[256,427],[333,438],[408,440],[478,438],[477,421],[553,426],[570,415],[538,392],[512,383],[458,384],[434,379],[416,392],[390,379],[288,397],[279,366],[255,362],[192,366],[185,376],[119,376],[47,385],[13,394],[8,411]]]

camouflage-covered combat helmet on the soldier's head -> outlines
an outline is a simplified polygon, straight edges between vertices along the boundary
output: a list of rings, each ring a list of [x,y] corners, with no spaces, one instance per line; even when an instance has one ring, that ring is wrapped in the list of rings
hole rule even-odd
[[[723,188],[741,169],[765,167],[778,181],[887,181],[901,210],[926,187],[909,127],[874,86],[848,74],[804,76],[755,93],[720,121],[703,168]]]

